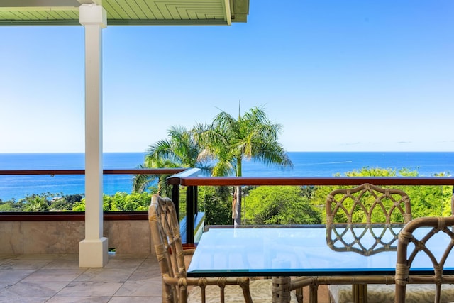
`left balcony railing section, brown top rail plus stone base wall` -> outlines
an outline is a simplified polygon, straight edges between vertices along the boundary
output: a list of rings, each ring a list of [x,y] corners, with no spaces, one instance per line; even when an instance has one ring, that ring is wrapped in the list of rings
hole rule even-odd
[[[174,175],[184,170],[104,170],[104,175]],[[11,176],[84,174],[84,170],[0,170],[0,175]],[[178,189],[178,186],[175,187]],[[174,192],[177,192],[176,189]],[[174,201],[178,203],[178,199]],[[4,233],[0,234],[0,242],[5,245],[0,248],[0,253],[77,253],[79,241],[84,238],[84,220],[83,211],[1,212]],[[109,238],[109,250],[128,254],[154,251],[147,211],[105,211],[103,227],[104,236]],[[140,241],[137,241],[137,235],[142,235]]]

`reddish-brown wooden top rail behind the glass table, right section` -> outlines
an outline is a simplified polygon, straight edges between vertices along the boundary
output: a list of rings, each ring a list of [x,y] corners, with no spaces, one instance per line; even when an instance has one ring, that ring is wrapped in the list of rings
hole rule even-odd
[[[167,179],[167,183],[169,179]],[[184,186],[247,185],[454,185],[454,177],[181,177]],[[169,183],[174,184],[174,183]]]

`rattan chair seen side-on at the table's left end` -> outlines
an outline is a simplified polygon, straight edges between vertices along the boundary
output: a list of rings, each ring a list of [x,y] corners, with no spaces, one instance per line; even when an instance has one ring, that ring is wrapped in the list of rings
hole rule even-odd
[[[187,277],[179,222],[171,199],[153,195],[148,209],[151,236],[162,274],[162,302],[272,301],[270,279],[248,277]]]

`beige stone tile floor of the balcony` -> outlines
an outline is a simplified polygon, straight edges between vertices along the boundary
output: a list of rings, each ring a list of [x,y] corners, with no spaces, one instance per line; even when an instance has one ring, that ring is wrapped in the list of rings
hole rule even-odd
[[[154,254],[109,254],[104,268],[79,268],[79,255],[0,255],[0,302],[158,303],[160,269]]]

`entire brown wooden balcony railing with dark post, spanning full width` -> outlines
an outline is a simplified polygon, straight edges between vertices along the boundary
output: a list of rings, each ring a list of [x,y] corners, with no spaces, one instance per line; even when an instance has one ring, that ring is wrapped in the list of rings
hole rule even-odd
[[[179,189],[187,187],[187,222],[186,243],[194,243],[194,217],[198,213],[197,196],[199,186],[252,186],[252,185],[293,185],[293,186],[346,186],[371,183],[376,185],[454,185],[454,177],[199,177],[200,170],[196,168],[172,169],[131,169],[131,170],[104,170],[104,175],[172,175],[167,178],[167,184],[172,185],[172,200],[179,202]],[[0,170],[0,175],[84,175],[84,170]],[[176,209],[179,209],[176,205]],[[0,214],[0,221],[11,220],[11,216],[23,216],[23,219],[42,220],[50,219],[47,214]],[[58,214],[58,216],[74,216],[80,220],[81,215]],[[82,215],[83,216],[83,215]],[[106,216],[106,214],[105,214]],[[109,214],[109,218],[131,216],[131,214]],[[135,219],[146,219],[147,214],[134,214]],[[53,218],[53,216],[52,216]],[[76,219],[77,218],[77,219]],[[62,219],[62,218],[59,218]]]

